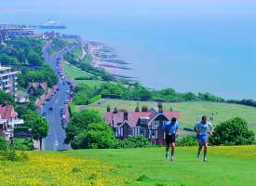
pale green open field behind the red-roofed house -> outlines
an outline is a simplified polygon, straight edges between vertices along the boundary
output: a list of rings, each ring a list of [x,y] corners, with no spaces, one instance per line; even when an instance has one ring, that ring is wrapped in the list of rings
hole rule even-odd
[[[92,108],[99,111],[102,115],[106,111],[107,105],[110,105],[112,110],[116,107],[118,109],[127,109],[134,111],[137,102],[133,100],[101,100],[101,103],[96,102],[88,106],[76,106],[76,111],[81,111],[85,108]],[[140,106],[147,105],[149,108],[155,108],[156,102],[153,101],[139,101]],[[220,122],[233,118],[242,117],[249,123],[249,127],[256,132],[256,108],[227,103],[214,102],[173,102],[164,103],[164,110],[169,111],[169,108],[181,113],[180,126],[193,127],[195,122],[200,119],[203,114],[210,115],[214,113],[213,125],[218,125]]]

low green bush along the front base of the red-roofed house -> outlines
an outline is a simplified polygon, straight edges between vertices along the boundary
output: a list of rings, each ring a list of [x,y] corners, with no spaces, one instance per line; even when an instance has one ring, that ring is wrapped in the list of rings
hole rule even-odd
[[[126,149],[126,148],[145,148],[149,147],[151,144],[145,137],[141,135],[136,135],[129,137],[128,139],[119,140],[117,148]]]

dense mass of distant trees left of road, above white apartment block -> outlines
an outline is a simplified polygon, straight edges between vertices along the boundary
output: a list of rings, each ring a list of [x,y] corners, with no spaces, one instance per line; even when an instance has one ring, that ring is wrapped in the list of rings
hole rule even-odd
[[[58,82],[58,76],[44,63],[42,58],[43,40],[32,38],[12,38],[7,46],[0,46],[2,65],[20,70],[19,86],[27,87],[31,81],[47,81],[48,86]]]

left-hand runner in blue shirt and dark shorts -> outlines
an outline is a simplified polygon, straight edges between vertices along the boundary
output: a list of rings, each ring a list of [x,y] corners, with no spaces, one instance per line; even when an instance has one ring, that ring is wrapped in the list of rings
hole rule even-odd
[[[166,133],[166,159],[168,160],[169,145],[171,145],[171,158],[174,160],[175,138],[179,135],[179,123],[177,119],[173,117],[171,121],[167,121],[164,124],[164,132]]]

